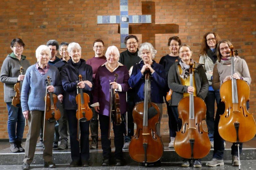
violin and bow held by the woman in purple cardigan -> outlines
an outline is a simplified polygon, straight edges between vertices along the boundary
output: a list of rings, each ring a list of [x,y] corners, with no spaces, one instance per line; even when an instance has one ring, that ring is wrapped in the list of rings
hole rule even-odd
[[[118,79],[118,74],[114,74],[115,79],[114,82]],[[118,92],[115,91],[115,89],[112,88],[112,84],[110,85],[110,100],[109,100],[109,132],[108,132],[108,139],[110,139],[110,131],[111,131],[111,120],[113,118],[113,123],[115,125],[121,125],[122,118],[121,118],[121,112],[120,112],[120,98]]]

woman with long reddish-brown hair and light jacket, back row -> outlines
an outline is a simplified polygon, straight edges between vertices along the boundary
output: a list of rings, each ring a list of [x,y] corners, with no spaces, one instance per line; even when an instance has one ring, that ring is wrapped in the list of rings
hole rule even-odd
[[[205,73],[209,82],[208,94],[205,98],[206,103],[206,124],[208,127],[208,136],[210,138],[211,147],[214,145],[213,134],[214,134],[214,110],[215,110],[215,100],[218,105],[220,101],[220,92],[219,90],[215,91],[212,84],[212,71],[213,67],[217,60],[217,44],[220,41],[220,38],[215,32],[207,32],[204,34],[201,44],[201,49],[199,52],[199,63],[203,64],[202,66],[205,69]]]

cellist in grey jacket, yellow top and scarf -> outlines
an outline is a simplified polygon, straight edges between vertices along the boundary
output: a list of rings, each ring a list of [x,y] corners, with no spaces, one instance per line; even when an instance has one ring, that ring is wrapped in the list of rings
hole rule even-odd
[[[178,104],[181,99],[189,96],[189,94],[193,94],[194,96],[198,96],[202,99],[205,99],[208,92],[208,80],[204,71],[202,64],[194,62],[192,59],[193,68],[195,68],[195,72],[193,74],[193,87],[190,86],[189,80],[189,63],[190,58],[192,56],[192,51],[189,45],[182,44],[179,47],[179,57],[180,61],[175,62],[170,67],[168,73],[168,86],[173,90],[172,99],[171,99],[171,109],[175,114],[175,117],[179,117],[178,113]],[[181,129],[182,124],[177,122],[179,125],[178,129]],[[182,167],[189,167],[191,160],[184,159],[182,163]],[[193,162],[192,162],[193,163]],[[200,160],[194,160],[194,167],[201,167]]]

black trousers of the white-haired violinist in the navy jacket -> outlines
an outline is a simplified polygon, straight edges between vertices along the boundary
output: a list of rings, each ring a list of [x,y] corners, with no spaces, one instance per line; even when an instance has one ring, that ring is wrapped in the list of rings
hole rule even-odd
[[[73,161],[87,161],[90,158],[89,154],[89,125],[90,121],[80,122],[80,146],[77,141],[77,118],[76,110],[66,110],[69,132],[70,132],[70,147],[71,158]]]

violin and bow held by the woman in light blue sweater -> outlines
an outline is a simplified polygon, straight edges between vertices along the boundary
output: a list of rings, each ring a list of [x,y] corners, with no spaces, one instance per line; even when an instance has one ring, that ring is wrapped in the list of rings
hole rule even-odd
[[[46,81],[46,94],[45,94],[45,114],[44,114],[44,129],[43,129],[43,139],[45,134],[45,120],[48,120],[49,122],[53,123],[56,120],[60,119],[60,111],[56,106],[56,103],[58,101],[58,97],[56,94],[53,94],[52,92],[49,92],[47,90],[48,86],[51,86],[51,78],[50,76],[47,76]],[[47,92],[48,91],[48,92]]]

